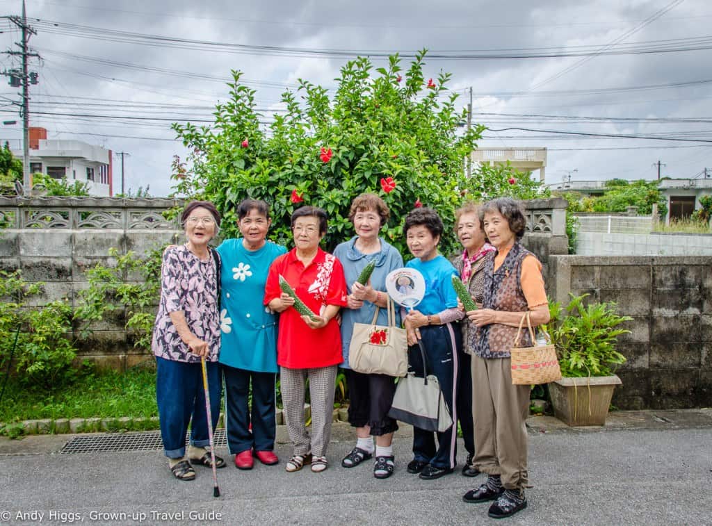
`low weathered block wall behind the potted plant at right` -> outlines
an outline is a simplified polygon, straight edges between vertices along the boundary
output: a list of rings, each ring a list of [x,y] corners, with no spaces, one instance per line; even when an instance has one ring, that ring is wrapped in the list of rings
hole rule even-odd
[[[628,359],[620,409],[712,406],[712,257],[553,256],[550,296],[614,301],[633,318],[619,338]]]

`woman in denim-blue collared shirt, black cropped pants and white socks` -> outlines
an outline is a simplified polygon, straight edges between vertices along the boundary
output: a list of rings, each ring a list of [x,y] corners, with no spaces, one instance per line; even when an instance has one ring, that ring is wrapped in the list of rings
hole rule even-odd
[[[377,307],[378,325],[388,325],[386,275],[402,268],[403,258],[379,232],[390,212],[383,199],[375,194],[362,194],[351,204],[349,220],[356,236],[336,247],[334,256],[344,268],[348,288],[347,308],[342,310],[341,343],[349,386],[349,423],[356,428],[356,446],[343,458],[341,465],[353,468],[376,454],[373,475],[388,478],[393,473],[393,432],[398,425],[388,416],[393,402],[395,382],[385,374],[362,374],[349,368],[349,344],[355,323],[371,323]],[[371,262],[375,268],[365,285],[357,282],[361,271]],[[399,321],[398,321],[399,323]],[[376,446],[373,438],[376,437]]]

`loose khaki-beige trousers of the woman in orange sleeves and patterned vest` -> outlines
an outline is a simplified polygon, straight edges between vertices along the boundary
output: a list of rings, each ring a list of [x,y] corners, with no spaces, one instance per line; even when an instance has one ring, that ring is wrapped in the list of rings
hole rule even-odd
[[[473,465],[500,475],[509,490],[527,486],[528,385],[512,385],[509,358],[472,357],[472,416],[475,421]]]

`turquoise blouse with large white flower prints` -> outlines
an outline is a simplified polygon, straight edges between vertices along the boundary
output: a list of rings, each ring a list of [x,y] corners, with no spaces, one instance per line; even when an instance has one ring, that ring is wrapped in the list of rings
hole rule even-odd
[[[287,252],[267,241],[248,251],[242,239],[226,239],[222,258],[220,363],[255,372],[277,372],[277,316],[263,305],[271,263]]]

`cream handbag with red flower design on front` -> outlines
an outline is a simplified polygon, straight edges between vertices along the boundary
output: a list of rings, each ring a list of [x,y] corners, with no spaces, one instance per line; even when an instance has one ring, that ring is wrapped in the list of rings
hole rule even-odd
[[[376,325],[380,307],[370,324],[355,323],[349,344],[349,367],[365,374],[404,377],[408,372],[408,341],[405,330],[396,327],[393,302],[387,300],[388,325]]]

